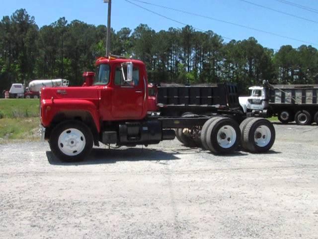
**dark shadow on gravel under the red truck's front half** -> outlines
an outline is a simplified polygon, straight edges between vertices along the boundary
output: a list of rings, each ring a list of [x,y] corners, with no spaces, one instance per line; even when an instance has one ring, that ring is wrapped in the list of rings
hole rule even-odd
[[[127,149],[104,149],[93,148],[86,160],[81,162],[66,163],[59,160],[51,151],[46,151],[50,164],[53,165],[85,165],[116,163],[119,161],[164,161],[180,159],[172,153],[166,153],[155,149],[127,148]]]

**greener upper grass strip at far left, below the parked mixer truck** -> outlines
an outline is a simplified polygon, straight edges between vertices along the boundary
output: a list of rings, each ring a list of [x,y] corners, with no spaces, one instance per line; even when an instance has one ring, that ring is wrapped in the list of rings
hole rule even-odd
[[[39,117],[38,99],[0,99],[0,119]]]

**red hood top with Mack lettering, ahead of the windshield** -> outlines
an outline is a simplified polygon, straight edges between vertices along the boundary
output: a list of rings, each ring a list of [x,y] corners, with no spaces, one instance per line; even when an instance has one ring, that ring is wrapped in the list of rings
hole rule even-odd
[[[98,100],[97,87],[59,87],[59,88],[42,88],[41,100],[54,99],[87,99]]]

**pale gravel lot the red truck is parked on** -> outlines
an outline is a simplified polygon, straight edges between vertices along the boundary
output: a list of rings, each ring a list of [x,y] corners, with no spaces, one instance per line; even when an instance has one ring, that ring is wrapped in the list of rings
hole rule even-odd
[[[275,128],[258,155],[174,140],[64,164],[47,142],[0,145],[0,238],[318,238],[318,126]]]

